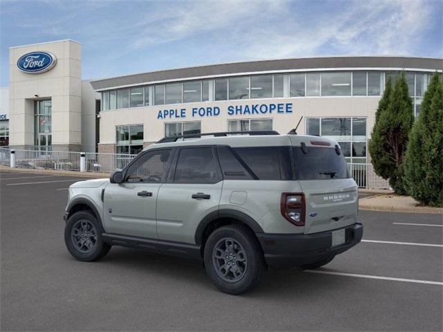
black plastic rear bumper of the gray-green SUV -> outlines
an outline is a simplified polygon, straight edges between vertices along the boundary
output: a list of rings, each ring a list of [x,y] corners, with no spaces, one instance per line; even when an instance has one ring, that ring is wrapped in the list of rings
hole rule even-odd
[[[340,229],[340,228],[339,228]],[[332,232],[314,234],[266,234],[255,233],[269,267],[291,268],[313,264],[330,256],[341,254],[361,241],[363,225],[354,223],[344,228],[345,243],[332,247]]]

